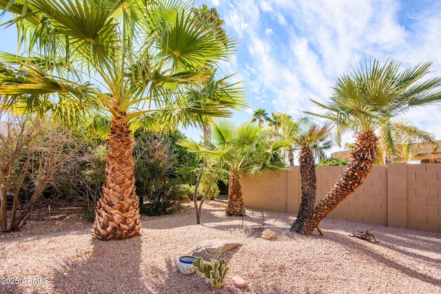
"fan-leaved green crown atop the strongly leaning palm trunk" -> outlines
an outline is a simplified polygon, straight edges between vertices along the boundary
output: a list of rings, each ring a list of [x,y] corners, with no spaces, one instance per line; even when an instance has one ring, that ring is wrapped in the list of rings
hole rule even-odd
[[[327,104],[311,100],[327,110],[314,114],[334,121],[337,139],[342,132],[375,131],[386,120],[411,107],[438,103],[441,78],[422,78],[430,73],[431,63],[420,63],[400,71],[397,61],[366,61],[349,74],[340,76]]]

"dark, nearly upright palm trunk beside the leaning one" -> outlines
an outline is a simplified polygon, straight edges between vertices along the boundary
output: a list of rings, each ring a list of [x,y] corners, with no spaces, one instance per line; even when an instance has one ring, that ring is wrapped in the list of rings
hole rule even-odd
[[[302,201],[300,202],[296,222],[291,226],[291,231],[306,235],[305,229],[308,227],[307,223],[312,220],[317,189],[316,165],[310,147],[300,149],[299,161]]]

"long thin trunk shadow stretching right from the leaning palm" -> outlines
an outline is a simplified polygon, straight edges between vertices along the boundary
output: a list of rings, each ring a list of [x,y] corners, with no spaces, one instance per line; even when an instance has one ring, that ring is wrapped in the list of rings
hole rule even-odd
[[[340,244],[344,248],[350,248],[351,250],[356,251],[356,254],[360,256],[360,259],[371,258],[372,260],[376,260],[376,262],[384,264],[384,266],[395,269],[396,271],[400,271],[401,273],[404,273],[404,275],[408,275],[409,277],[416,278],[422,282],[426,282],[434,286],[439,286],[441,284],[441,279],[431,277],[429,275],[425,275],[424,273],[420,273],[407,266],[399,264],[398,262],[395,262],[387,257],[384,257],[380,253],[377,253],[373,249],[370,249],[369,246],[367,246],[367,244],[356,242],[350,237],[342,238],[342,235],[340,233],[327,231],[326,238],[329,238],[331,241]],[[392,251],[396,251],[392,246],[386,246],[386,247],[388,249],[391,249]]]

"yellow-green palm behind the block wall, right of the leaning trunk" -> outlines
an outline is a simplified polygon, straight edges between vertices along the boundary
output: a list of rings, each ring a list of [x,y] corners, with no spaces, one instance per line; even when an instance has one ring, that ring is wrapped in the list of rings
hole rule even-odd
[[[406,120],[387,120],[380,127],[378,138],[378,159],[382,160],[377,160],[378,164],[411,160],[419,149],[415,142],[438,149],[438,142],[433,134],[411,125]]]

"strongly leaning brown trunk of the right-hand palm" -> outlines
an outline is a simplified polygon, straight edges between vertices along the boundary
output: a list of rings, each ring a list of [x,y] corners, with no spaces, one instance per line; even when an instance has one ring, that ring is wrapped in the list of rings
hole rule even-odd
[[[358,134],[355,146],[351,149],[351,158],[349,158],[342,175],[325,198],[318,202],[312,217],[305,220],[305,233],[307,235],[311,234],[329,212],[362,184],[376,160],[377,143],[378,138],[372,131]]]

